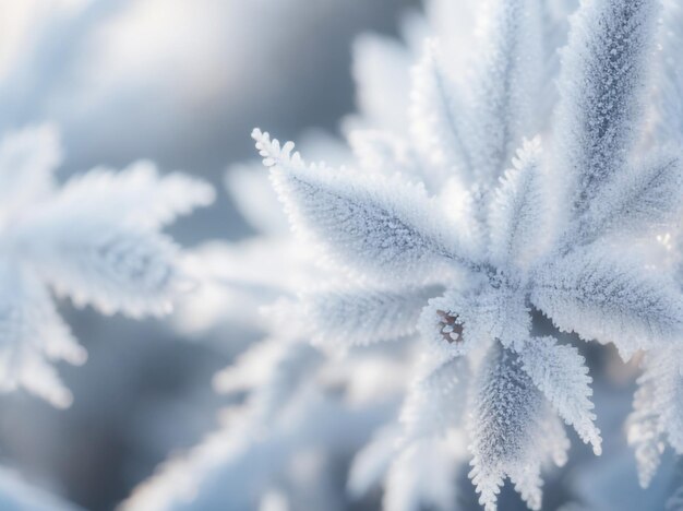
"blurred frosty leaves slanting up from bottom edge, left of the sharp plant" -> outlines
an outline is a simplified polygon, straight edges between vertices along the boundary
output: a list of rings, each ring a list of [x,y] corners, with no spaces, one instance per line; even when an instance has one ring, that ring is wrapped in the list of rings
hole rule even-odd
[[[286,322],[276,319],[271,336],[215,377],[219,392],[245,395],[243,402],[197,447],[159,466],[122,509],[264,509],[273,495],[285,509],[337,509],[345,500],[334,467],[390,419],[397,396],[387,393],[404,367],[359,357],[339,371],[292,325],[289,306],[271,308],[272,319]],[[351,375],[358,381],[347,381]]]

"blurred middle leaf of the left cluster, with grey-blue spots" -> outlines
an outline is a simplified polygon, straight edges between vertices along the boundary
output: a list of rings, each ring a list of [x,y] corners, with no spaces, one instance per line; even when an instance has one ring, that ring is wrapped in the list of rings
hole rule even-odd
[[[165,236],[118,228],[98,218],[35,216],[22,226],[21,254],[58,294],[110,314],[164,314],[187,286]]]

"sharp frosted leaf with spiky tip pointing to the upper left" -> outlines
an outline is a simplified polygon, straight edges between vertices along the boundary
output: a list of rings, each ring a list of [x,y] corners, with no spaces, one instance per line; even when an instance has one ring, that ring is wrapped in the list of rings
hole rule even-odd
[[[307,167],[293,144],[281,150],[254,130],[264,164],[292,224],[321,241],[328,253],[356,268],[398,280],[432,273],[451,260],[476,258],[467,233],[443,225],[445,218],[421,187],[397,179],[359,177]]]

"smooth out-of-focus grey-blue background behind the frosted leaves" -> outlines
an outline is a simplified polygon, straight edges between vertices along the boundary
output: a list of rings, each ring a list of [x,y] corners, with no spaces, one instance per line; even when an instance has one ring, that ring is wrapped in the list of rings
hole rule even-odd
[[[140,158],[214,183],[218,200],[181,221],[183,246],[250,235],[224,191],[255,156],[259,126],[291,140],[334,133],[354,110],[350,51],[363,32],[395,34],[411,0],[0,0],[0,131],[52,122],[60,180]],[[32,483],[112,509],[169,453],[216,426],[211,379],[242,340],[183,338],[158,321],[60,305],[89,353],[59,367],[67,411],[0,397],[0,457]]]

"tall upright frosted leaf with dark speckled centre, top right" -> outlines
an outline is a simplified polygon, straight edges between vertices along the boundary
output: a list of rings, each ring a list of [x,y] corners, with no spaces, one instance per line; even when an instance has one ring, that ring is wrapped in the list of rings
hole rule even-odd
[[[628,166],[654,51],[654,0],[587,0],[572,20],[560,75],[556,166],[578,211]]]

